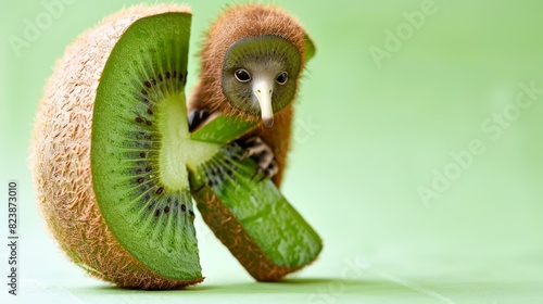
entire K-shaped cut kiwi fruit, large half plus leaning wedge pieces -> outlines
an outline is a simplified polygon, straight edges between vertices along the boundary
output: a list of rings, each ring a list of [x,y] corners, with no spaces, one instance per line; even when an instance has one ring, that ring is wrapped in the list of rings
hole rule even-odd
[[[258,280],[299,269],[321,248],[273,182],[252,178],[256,164],[241,160],[232,140],[253,125],[219,116],[189,132],[190,23],[177,4],[105,18],[58,62],[36,115],[31,166],[48,227],[77,265],[119,287],[203,280],[192,197]]]

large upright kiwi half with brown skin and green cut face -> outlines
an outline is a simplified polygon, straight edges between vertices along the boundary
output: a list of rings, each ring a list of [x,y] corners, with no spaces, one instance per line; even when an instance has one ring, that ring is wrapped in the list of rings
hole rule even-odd
[[[190,23],[176,4],[105,18],[58,62],[36,116],[33,170],[48,226],[77,265],[121,287],[203,280],[186,164],[215,148],[189,138]]]

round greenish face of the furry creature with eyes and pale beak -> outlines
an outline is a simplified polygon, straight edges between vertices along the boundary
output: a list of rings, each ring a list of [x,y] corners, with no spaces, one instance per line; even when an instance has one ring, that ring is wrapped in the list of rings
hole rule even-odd
[[[269,128],[274,114],[294,99],[301,66],[299,49],[281,37],[242,38],[226,52],[223,93],[233,107],[260,116]]]

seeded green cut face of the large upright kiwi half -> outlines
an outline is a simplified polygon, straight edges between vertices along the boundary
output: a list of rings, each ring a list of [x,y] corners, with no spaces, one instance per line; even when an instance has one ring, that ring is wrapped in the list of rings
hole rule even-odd
[[[215,153],[189,139],[189,29],[190,15],[178,13],[130,25],[105,64],[92,116],[92,180],[105,223],[134,257],[173,280],[202,277],[186,166]]]

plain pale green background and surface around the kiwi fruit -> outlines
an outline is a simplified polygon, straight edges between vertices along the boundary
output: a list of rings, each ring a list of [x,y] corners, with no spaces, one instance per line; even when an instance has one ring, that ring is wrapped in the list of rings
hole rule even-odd
[[[543,94],[527,109],[515,107],[520,84],[543,89],[543,2],[435,0],[434,13],[413,28],[403,12],[420,11],[422,0],[274,1],[300,18],[318,48],[295,105],[282,192],[320,233],[325,250],[286,283],[255,283],[197,220],[205,282],[188,291],[136,292],[88,278],[60,252],[37,210],[27,150],[37,102],[64,48],[139,1],[72,0],[17,54],[9,37],[24,38],[26,22],[36,24],[48,13],[42,3],[51,1],[0,2],[0,236],[8,233],[8,180],[17,179],[16,300],[543,302]],[[194,76],[202,30],[226,2],[188,2]],[[387,49],[387,30],[397,29],[401,46]],[[389,50],[388,58],[376,61],[371,48]],[[496,127],[493,115],[504,112],[510,119]],[[460,168],[452,155],[467,162],[462,151],[472,140],[483,152]],[[452,174],[446,190],[432,187],[435,172]],[[440,190],[439,197],[425,203],[420,187]],[[0,246],[2,294],[5,249]],[[9,302],[2,303],[14,302],[3,296]]]

